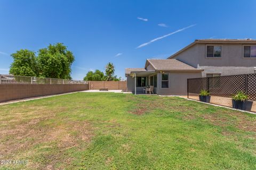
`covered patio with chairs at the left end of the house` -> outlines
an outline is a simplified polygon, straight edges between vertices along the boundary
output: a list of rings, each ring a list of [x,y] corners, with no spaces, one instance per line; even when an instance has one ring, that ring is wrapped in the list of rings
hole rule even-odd
[[[157,87],[157,72],[155,71],[132,71],[131,77],[134,79],[134,94],[135,95],[145,95],[149,94],[146,88],[153,86],[153,92],[151,94],[156,94]]]

